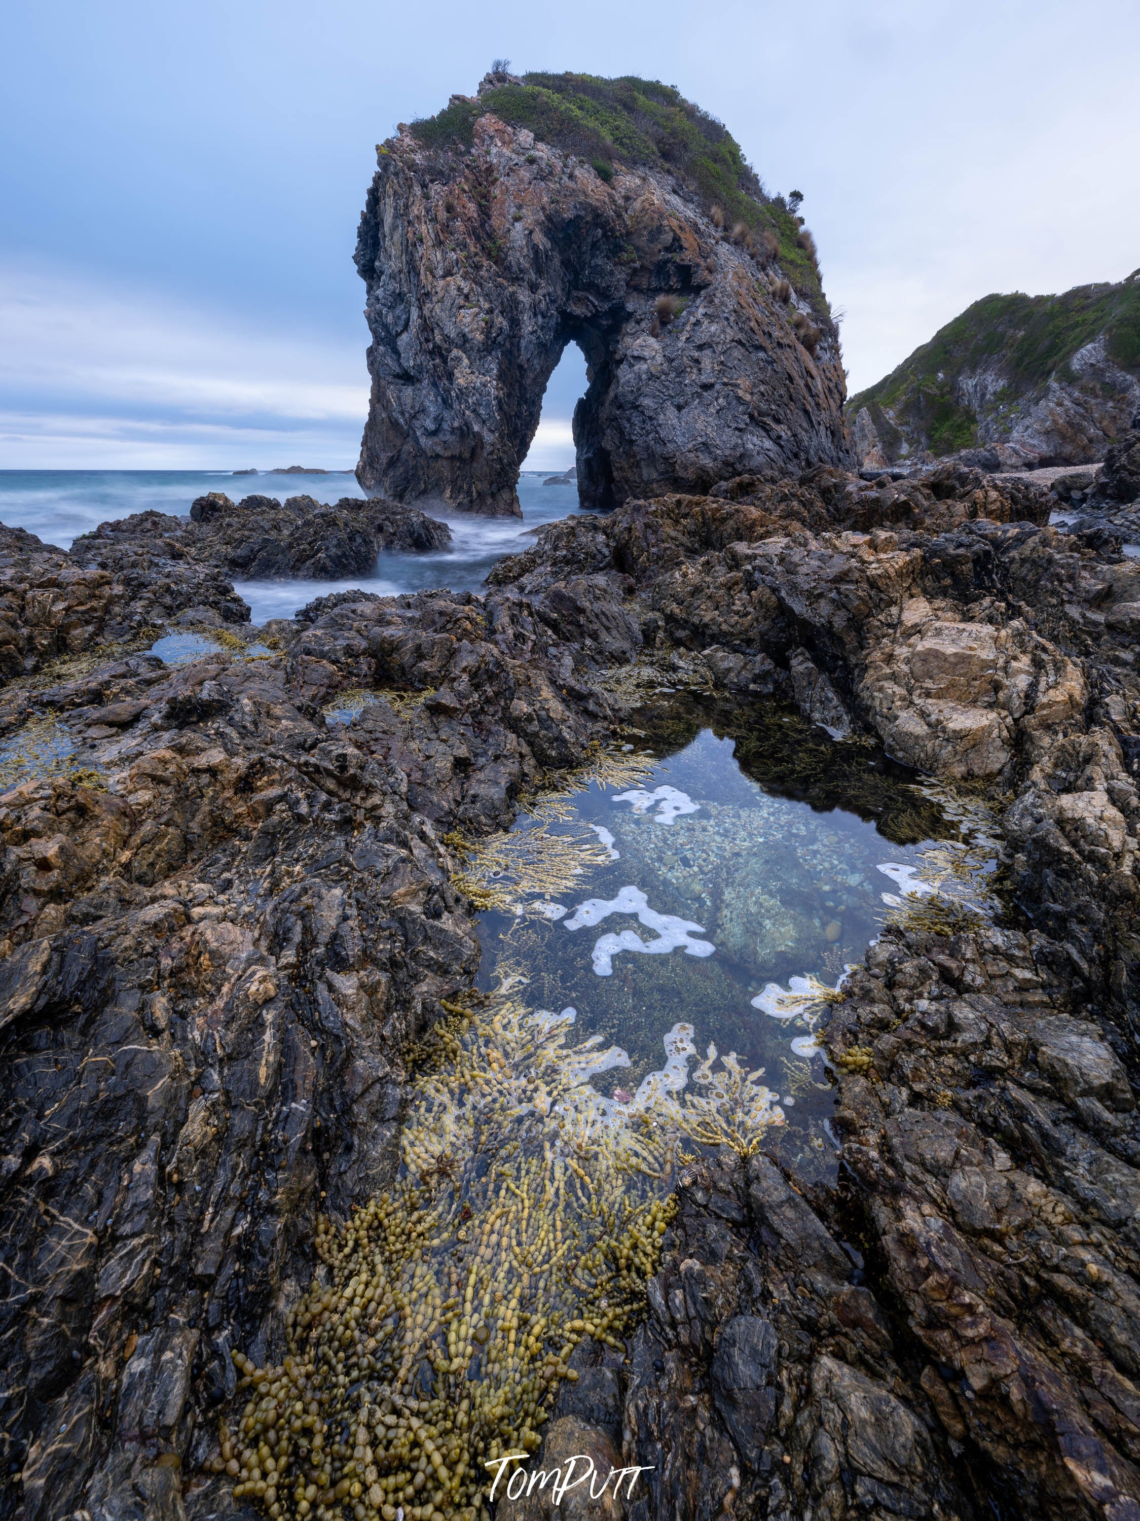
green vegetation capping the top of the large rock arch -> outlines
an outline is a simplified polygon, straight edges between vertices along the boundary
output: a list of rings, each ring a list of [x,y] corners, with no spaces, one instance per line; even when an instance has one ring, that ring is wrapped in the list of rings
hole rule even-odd
[[[772,233],[783,272],[821,316],[830,315],[810,246],[800,242],[800,219],[783,199],[766,195],[731,132],[672,85],[635,75],[524,75],[521,84],[499,85],[479,100],[458,100],[413,122],[412,131],[426,146],[470,148],[474,123],[488,111],[576,154],[606,181],[623,164],[667,169],[707,211],[719,207],[725,225]]]

